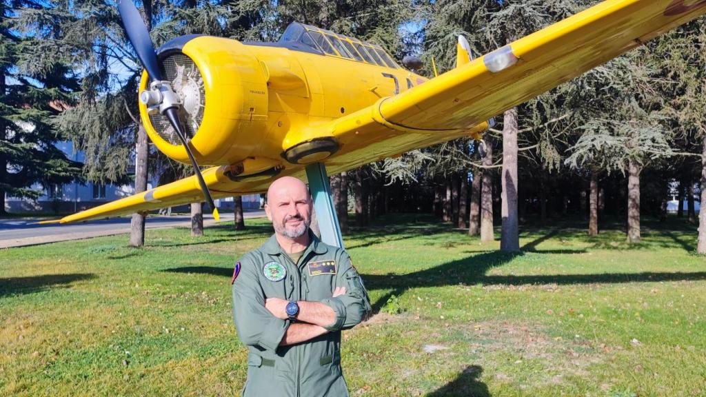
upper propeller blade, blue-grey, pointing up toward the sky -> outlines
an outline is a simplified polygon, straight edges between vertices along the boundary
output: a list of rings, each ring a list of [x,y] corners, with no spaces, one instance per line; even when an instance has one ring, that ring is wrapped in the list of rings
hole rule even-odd
[[[123,21],[123,28],[128,35],[128,39],[135,48],[138,58],[145,67],[152,81],[162,80],[162,71],[157,63],[155,45],[150,39],[150,32],[147,31],[145,23],[132,0],[118,0],[118,12]]]

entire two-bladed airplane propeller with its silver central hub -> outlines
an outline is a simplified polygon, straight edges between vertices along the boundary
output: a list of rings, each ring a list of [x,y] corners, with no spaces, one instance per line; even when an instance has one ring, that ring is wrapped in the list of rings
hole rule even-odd
[[[150,76],[150,88],[140,93],[140,102],[148,105],[150,112],[160,112],[163,114],[167,117],[169,123],[172,124],[174,131],[176,131],[177,136],[179,136],[181,144],[184,145],[186,154],[189,155],[189,160],[191,160],[191,165],[193,165],[193,172],[196,174],[198,184],[201,186],[201,191],[203,191],[203,196],[208,206],[210,206],[211,211],[213,211],[213,218],[219,220],[220,216],[218,215],[218,210],[213,203],[213,198],[211,198],[211,194],[208,191],[208,186],[206,186],[206,182],[203,180],[203,175],[201,175],[201,170],[198,168],[196,158],[194,158],[193,153],[191,153],[189,141],[184,132],[184,126],[181,125],[181,121],[179,120],[178,109],[182,106],[179,95],[174,93],[169,81],[162,80],[162,71],[157,62],[155,45],[152,43],[150,33],[143,23],[142,16],[140,16],[132,0],[118,0],[118,12],[120,13],[128,39],[135,48],[140,62]]]

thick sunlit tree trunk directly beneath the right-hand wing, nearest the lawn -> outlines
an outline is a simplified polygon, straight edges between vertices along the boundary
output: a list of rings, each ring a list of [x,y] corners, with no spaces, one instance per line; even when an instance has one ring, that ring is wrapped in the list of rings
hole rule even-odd
[[[505,111],[503,117],[503,172],[501,214],[503,225],[500,249],[520,251],[520,231],[517,220],[517,107]]]

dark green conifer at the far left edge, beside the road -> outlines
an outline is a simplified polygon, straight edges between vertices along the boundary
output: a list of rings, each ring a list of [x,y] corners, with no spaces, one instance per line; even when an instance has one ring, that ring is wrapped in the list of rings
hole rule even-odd
[[[73,104],[76,76],[65,57],[38,59],[34,49],[44,35],[54,34],[50,22],[40,27],[23,24],[32,12],[30,1],[0,1],[0,214],[5,196],[37,198],[33,188],[71,182],[80,175],[80,163],[69,160],[54,145],[64,141],[53,118]]]

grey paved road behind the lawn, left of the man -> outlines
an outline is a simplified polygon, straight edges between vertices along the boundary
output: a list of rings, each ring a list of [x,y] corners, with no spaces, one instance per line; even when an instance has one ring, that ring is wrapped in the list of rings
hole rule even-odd
[[[203,214],[203,226],[208,227],[216,222],[213,216]],[[244,211],[244,218],[261,218],[265,211]],[[91,220],[85,223],[69,225],[39,225],[37,219],[5,219],[0,220],[0,248],[22,247],[25,245],[44,244],[73,239],[86,239],[90,237],[119,235],[130,232],[130,218],[113,218],[105,220]],[[232,222],[233,214],[221,214],[220,222]],[[145,225],[148,229],[163,227],[191,227],[191,217],[188,215],[177,216],[152,216],[147,218]]]

